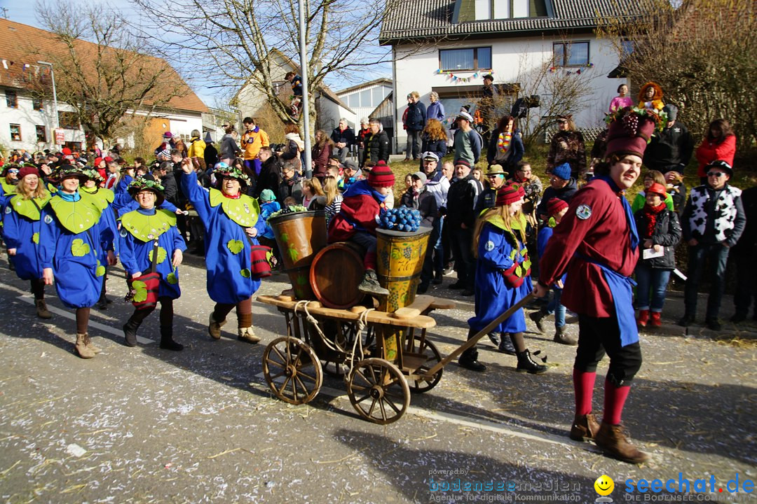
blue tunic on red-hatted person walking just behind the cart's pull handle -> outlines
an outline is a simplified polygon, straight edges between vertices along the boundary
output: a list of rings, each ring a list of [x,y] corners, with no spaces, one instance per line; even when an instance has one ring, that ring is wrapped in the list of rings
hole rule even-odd
[[[475,272],[475,317],[468,320],[470,328],[475,332],[484,329],[531,292],[530,276],[525,277],[521,286],[511,287],[502,274],[503,270],[512,267],[513,258],[518,263],[523,261],[525,246],[523,249],[516,248],[519,246],[509,230],[498,227],[492,221],[488,221],[481,229]],[[494,331],[524,332],[525,329],[525,316],[520,309]]]

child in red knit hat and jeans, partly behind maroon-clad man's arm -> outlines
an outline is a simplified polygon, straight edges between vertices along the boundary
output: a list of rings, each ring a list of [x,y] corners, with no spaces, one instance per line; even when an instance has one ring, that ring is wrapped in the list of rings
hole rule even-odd
[[[547,242],[552,237],[554,227],[562,220],[562,216],[568,212],[568,203],[559,198],[552,198],[547,202],[547,215],[549,217],[547,225],[541,227],[536,239],[536,249],[539,257],[544,254],[547,248]],[[554,224],[553,224],[554,223]],[[557,280],[552,286],[552,299],[544,308],[534,311],[528,315],[528,318],[534,321],[537,329],[544,332],[544,325],[541,320],[547,315],[555,314],[555,336],[553,341],[562,345],[578,345],[578,338],[565,333],[565,305],[560,303],[562,296],[562,287],[565,284],[565,275]]]

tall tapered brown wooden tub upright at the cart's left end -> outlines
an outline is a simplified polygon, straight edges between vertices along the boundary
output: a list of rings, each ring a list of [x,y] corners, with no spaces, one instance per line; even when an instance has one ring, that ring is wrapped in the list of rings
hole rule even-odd
[[[308,274],[316,254],[326,246],[326,212],[294,212],[269,218],[284,271],[298,299],[315,299]]]

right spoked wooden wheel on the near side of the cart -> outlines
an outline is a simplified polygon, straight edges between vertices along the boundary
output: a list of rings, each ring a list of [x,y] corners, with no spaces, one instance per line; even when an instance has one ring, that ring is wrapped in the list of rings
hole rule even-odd
[[[381,425],[396,422],[410,406],[410,388],[400,369],[375,357],[355,364],[347,395],[360,416]]]

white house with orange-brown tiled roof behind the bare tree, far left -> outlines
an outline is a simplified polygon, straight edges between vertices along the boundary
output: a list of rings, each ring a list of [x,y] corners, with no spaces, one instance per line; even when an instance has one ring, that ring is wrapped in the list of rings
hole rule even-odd
[[[76,40],[77,54],[95,54],[97,45]],[[61,60],[67,49],[55,35],[44,29],[35,28],[14,21],[0,19],[0,144],[11,149],[44,150],[55,147],[55,125],[63,130],[64,145],[85,148],[89,140],[82,125],[76,120],[73,107],[58,101],[58,118],[51,96],[52,75],[50,66],[39,61]],[[167,71],[160,77],[155,93],[171,89],[171,98],[160,103],[155,95],[148,96],[139,110],[129,110],[137,116],[148,116],[146,138],[154,137],[160,142],[164,131],[189,138],[192,130],[203,131],[202,114],[209,110],[176,73],[167,61],[148,58],[148,64],[164,66]],[[86,58],[83,58],[86,60]],[[153,61],[154,60],[154,61]],[[87,71],[84,63],[83,68]],[[60,82],[61,69],[53,69],[55,79]],[[45,88],[45,98],[39,89]],[[93,111],[97,113],[97,111]],[[129,144],[130,139],[120,141]],[[111,147],[111,146],[104,146]]]

